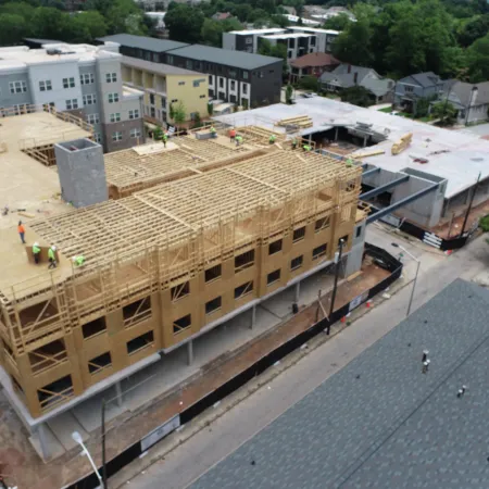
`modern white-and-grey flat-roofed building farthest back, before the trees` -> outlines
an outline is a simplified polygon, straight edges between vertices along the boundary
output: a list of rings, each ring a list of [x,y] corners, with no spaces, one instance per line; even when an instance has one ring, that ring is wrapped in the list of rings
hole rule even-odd
[[[258,52],[260,41],[285,45],[287,58],[294,60],[312,52],[331,52],[338,30],[297,26],[287,28],[231,30],[223,34],[223,48],[233,51]]]

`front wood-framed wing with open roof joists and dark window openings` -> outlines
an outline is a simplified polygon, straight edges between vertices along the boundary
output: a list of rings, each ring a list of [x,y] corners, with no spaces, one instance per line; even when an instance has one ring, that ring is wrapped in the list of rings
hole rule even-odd
[[[0,294],[0,359],[23,388],[33,416],[330,260],[339,238],[348,237],[348,250],[361,173],[316,153],[265,151],[30,224],[62,254],[86,258],[64,281],[47,275]],[[281,248],[269,255],[277,240]],[[313,259],[313,250],[324,244],[326,252]],[[254,253],[253,263],[236,272],[235,260],[243,253]],[[301,266],[291,271],[300,255]],[[221,276],[206,283],[205,271],[217,265]],[[277,269],[280,276],[267,284]],[[238,289],[243,294],[235,298],[235,289],[249,283],[252,290]],[[149,298],[150,311],[139,302]],[[221,302],[211,302],[215,298]],[[206,311],[210,302],[215,310],[208,304]],[[47,317],[45,308],[51,308]],[[128,311],[136,311],[137,319]],[[189,314],[190,324],[181,326]],[[128,343],[136,350],[131,354]],[[66,376],[71,385],[60,387]],[[58,384],[48,388],[52,383]],[[62,392],[41,404],[39,389],[42,396]]]

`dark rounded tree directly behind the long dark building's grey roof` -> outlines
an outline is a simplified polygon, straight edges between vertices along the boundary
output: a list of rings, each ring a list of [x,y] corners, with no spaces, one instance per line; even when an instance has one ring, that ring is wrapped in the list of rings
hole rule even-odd
[[[195,43],[200,41],[204,16],[199,9],[178,3],[168,9],[165,25],[172,40]]]

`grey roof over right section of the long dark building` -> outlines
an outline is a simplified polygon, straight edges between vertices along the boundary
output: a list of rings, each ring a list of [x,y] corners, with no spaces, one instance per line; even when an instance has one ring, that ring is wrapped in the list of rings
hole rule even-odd
[[[262,54],[251,54],[242,51],[231,51],[230,49],[212,48],[202,45],[187,45],[184,48],[175,49],[172,54],[177,57],[191,58],[198,61],[209,61],[213,63],[225,64],[242,70],[255,70],[266,66],[281,58],[264,57]]]

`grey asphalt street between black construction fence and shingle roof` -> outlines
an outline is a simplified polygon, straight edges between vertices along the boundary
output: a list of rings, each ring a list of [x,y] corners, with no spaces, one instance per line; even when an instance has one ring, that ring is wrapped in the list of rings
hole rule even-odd
[[[394,240],[390,236],[379,234],[375,228],[372,228],[371,237],[376,238],[372,239],[373,242],[385,241],[385,244]],[[381,246],[380,242],[379,244]],[[413,311],[455,278],[471,280],[489,265],[489,246],[485,237],[474,240],[448,259],[416,244],[405,246],[422,259]],[[412,274],[414,263],[408,266]],[[391,330],[405,316],[410,293],[411,286],[374,308],[351,327],[313,350],[266,387],[259,389],[209,428],[201,430],[171,452],[165,460],[156,462],[133,478],[127,487],[138,489],[187,487]]]

